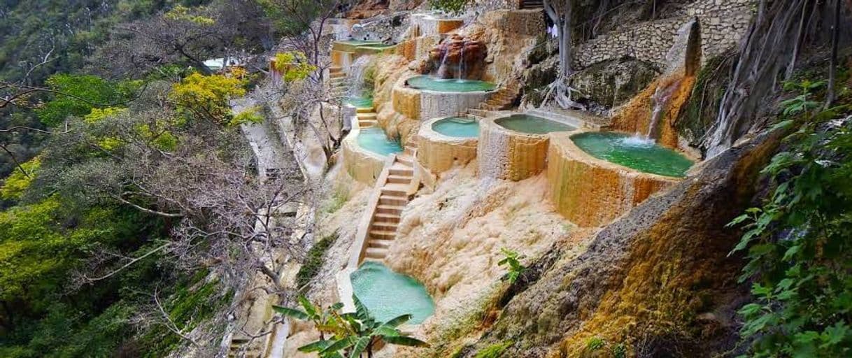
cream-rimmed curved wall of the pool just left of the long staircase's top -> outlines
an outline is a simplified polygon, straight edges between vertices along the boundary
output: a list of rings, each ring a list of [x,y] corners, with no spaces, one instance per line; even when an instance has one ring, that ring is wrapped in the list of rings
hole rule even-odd
[[[385,162],[389,161],[391,157],[379,155],[361,147],[358,142],[361,130],[363,129],[358,125],[358,120],[352,120],[352,130],[349,131],[346,138],[343,138],[341,145],[343,147],[343,168],[356,181],[372,187],[376,185],[376,179],[382,174]]]

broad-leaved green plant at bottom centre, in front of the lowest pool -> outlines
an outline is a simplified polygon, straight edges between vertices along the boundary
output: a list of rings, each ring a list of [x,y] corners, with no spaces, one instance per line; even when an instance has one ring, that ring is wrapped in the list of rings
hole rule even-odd
[[[372,349],[381,342],[409,347],[429,346],[429,344],[417,338],[408,337],[400,332],[399,326],[411,320],[412,315],[400,315],[387,322],[379,322],[373,318],[370,311],[354,294],[352,300],[355,303],[354,313],[339,313],[338,309],[342,308],[343,304],[337,303],[332,305],[328,312],[319,315],[320,317],[325,315],[331,317],[331,320],[329,320],[331,323],[317,326],[317,329],[320,330],[320,340],[306,344],[299,350],[317,352],[323,358],[343,357],[341,351],[349,357],[360,357],[362,353],[366,352],[367,357],[371,358]],[[312,317],[316,316],[308,315],[298,309],[287,309],[279,306],[273,306],[273,309],[282,315],[297,320],[313,320]],[[322,332],[331,333],[332,337],[325,339]]]

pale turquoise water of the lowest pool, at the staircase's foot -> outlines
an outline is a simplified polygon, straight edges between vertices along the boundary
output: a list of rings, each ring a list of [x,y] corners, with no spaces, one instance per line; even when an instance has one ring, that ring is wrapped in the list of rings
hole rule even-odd
[[[349,275],[355,296],[379,321],[400,315],[414,317],[408,323],[422,323],[435,312],[435,302],[426,287],[412,277],[397,274],[382,263],[367,261]]]

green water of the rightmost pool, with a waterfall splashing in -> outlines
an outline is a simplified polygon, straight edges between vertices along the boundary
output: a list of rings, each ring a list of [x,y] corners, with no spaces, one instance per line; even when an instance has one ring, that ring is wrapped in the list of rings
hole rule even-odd
[[[686,175],[692,160],[653,141],[613,132],[580,133],[571,139],[597,159],[660,176]]]

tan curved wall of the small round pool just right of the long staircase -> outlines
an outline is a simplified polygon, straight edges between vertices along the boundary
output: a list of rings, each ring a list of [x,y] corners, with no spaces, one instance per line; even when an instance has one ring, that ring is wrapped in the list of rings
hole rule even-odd
[[[444,120],[444,117],[429,119],[417,132],[417,162],[435,175],[475,159],[479,142],[478,135],[447,136],[436,131],[435,124]]]

